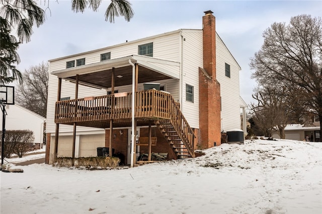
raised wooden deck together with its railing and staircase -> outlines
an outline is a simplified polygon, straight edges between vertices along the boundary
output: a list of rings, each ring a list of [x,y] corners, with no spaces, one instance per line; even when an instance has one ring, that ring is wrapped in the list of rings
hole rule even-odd
[[[57,101],[55,123],[77,126],[110,128],[131,127],[132,93],[116,93],[79,99]],[[155,89],[135,92],[134,117],[136,125],[148,126],[153,121],[176,153],[182,142],[194,157],[194,131],[180,111],[180,104],[170,93]],[[171,129],[171,130],[170,130]],[[175,132],[175,136],[170,132]]]

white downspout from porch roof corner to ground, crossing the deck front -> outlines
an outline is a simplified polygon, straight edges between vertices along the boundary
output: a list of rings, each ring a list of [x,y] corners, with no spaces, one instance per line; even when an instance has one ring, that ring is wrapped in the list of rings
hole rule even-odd
[[[134,116],[135,116],[135,65],[132,63],[131,59],[129,59],[130,65],[132,65],[132,140],[131,140],[131,168],[134,166],[133,158],[134,158],[134,143],[136,130],[134,130]]]

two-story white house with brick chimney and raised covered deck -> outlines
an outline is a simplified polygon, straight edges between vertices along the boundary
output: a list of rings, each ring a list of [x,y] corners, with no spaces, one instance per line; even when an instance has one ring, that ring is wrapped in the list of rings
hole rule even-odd
[[[202,30],[180,29],[49,63],[46,163],[55,155],[97,156],[98,147],[131,166],[142,153],[148,161],[151,152],[195,157],[196,149],[220,145],[222,131],[240,128],[240,108],[245,118],[240,67],[215,32],[211,11]],[[144,90],[149,86],[159,90]]]

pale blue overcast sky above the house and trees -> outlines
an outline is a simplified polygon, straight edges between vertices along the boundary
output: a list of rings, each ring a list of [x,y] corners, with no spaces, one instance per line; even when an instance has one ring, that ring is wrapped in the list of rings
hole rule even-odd
[[[103,0],[99,12],[71,11],[70,1],[38,1],[47,20],[34,28],[31,42],[21,44],[21,71],[42,61],[153,36],[178,29],[202,29],[204,11],[216,17],[216,31],[241,67],[240,95],[250,104],[256,82],[251,79],[250,58],[263,44],[262,34],[274,22],[293,16],[322,16],[322,1],[130,1],[134,18],[126,22],[105,21],[110,1]],[[44,4],[45,3],[45,4]]]

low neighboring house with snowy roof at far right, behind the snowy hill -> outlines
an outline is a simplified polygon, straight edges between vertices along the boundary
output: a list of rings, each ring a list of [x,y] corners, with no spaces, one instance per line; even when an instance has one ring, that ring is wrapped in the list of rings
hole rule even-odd
[[[311,121],[305,124],[291,124],[285,127],[285,139],[302,141],[308,136],[309,141],[319,142],[320,140],[320,122],[318,117],[313,117]],[[277,132],[273,133],[273,138],[280,138]]]

